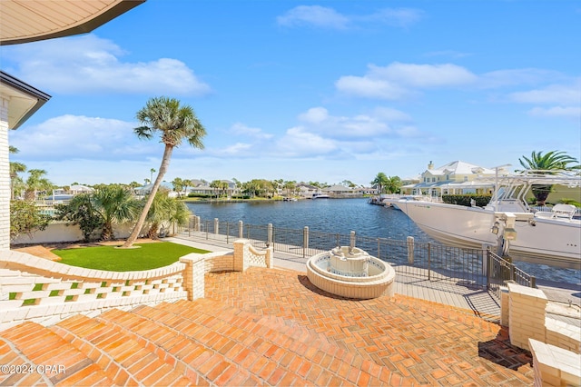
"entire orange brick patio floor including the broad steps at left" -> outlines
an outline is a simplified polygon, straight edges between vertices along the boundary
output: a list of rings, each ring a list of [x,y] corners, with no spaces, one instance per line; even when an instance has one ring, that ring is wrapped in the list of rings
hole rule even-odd
[[[0,385],[531,385],[531,362],[472,310],[344,299],[281,269],[208,273],[193,302],[0,332],[0,364],[35,371]]]

